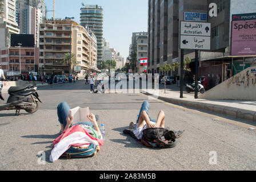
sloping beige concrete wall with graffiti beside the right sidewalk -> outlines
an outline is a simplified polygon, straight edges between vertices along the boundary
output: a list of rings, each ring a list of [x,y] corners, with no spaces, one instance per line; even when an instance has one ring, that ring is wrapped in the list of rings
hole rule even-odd
[[[256,101],[256,67],[250,67],[199,96],[214,100]]]

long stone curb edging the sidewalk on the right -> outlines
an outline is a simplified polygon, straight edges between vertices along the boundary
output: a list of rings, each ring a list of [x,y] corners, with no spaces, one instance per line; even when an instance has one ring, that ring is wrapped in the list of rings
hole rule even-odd
[[[150,93],[143,94],[147,96],[153,96],[153,94]],[[256,123],[256,111],[238,109],[236,107],[230,106],[202,103],[197,101],[184,101],[177,98],[167,98],[161,96],[159,96],[158,99],[179,106],[192,107],[194,109],[211,111],[212,113],[226,115],[228,117],[235,119],[246,119],[247,121]]]

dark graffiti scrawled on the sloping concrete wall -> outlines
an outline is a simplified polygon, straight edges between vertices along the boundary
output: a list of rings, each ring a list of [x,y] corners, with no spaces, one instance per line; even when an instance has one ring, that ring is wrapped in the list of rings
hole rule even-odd
[[[231,77],[227,80],[227,88],[231,85],[243,86],[249,88],[256,85],[256,72],[255,69],[250,69],[246,72],[241,72],[238,75]]]

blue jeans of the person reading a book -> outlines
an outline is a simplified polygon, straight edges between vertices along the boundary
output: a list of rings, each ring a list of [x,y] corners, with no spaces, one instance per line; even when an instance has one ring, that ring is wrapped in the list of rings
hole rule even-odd
[[[67,104],[67,102],[61,102],[61,104],[59,104],[57,107],[59,123],[61,123],[64,128],[67,126],[67,117],[69,116],[69,110],[70,110],[70,107],[69,107],[69,104]],[[93,126],[92,122],[82,122],[82,123],[85,125]],[[78,124],[79,123],[76,123],[75,125],[78,125]],[[72,126],[75,126],[75,125],[72,125]]]

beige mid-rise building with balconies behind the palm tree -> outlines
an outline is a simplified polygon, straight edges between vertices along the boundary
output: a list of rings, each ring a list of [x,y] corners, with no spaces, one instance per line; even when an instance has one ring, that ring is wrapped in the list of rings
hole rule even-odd
[[[71,73],[79,76],[97,71],[96,38],[89,28],[67,19],[45,20],[40,26],[40,64],[46,75],[69,75],[69,63],[64,63],[66,53],[74,54],[77,65],[71,65]],[[74,66],[81,68],[75,72]]]

